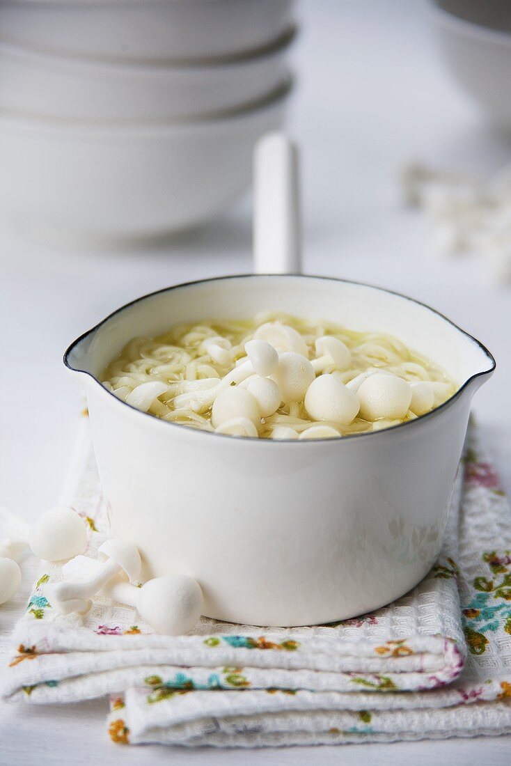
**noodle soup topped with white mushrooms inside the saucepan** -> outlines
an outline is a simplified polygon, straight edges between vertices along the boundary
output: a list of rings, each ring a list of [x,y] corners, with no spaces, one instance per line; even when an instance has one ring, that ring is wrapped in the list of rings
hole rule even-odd
[[[234,436],[342,437],[411,421],[457,390],[400,340],[266,313],[130,341],[101,376],[163,420]]]

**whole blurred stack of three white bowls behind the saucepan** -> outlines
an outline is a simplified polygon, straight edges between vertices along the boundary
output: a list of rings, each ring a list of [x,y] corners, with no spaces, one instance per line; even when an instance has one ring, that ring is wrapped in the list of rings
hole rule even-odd
[[[0,217],[127,239],[224,210],[295,31],[293,0],[2,0]]]

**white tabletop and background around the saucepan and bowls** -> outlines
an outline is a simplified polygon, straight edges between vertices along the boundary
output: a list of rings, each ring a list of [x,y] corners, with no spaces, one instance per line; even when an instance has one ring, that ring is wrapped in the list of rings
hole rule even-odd
[[[511,491],[511,287],[478,260],[441,260],[420,213],[401,207],[407,159],[491,172],[511,162],[496,133],[437,59],[420,0],[303,0],[290,133],[303,151],[305,269],[408,293],[480,338],[497,359],[474,409]],[[51,179],[48,179],[51,183]],[[57,499],[80,392],[67,344],[142,293],[251,269],[250,201],[207,228],[145,250],[38,244],[0,230],[0,504],[34,519]],[[172,478],[172,477],[170,477]],[[0,653],[28,588],[0,610]],[[0,764],[499,764],[509,738],[340,748],[193,751],[123,748],[104,731],[106,701],[0,705]]]

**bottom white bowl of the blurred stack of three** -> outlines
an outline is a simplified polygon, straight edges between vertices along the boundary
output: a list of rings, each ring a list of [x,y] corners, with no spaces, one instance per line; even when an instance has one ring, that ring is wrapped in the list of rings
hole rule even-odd
[[[237,116],[154,126],[0,115],[0,216],[103,239],[191,227],[251,181],[254,142],[283,123],[287,90]]]

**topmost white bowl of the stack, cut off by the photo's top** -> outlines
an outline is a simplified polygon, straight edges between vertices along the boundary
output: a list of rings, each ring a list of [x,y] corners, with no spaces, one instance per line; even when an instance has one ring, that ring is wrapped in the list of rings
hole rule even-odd
[[[292,0],[2,0],[5,41],[123,61],[206,61],[274,44]]]

